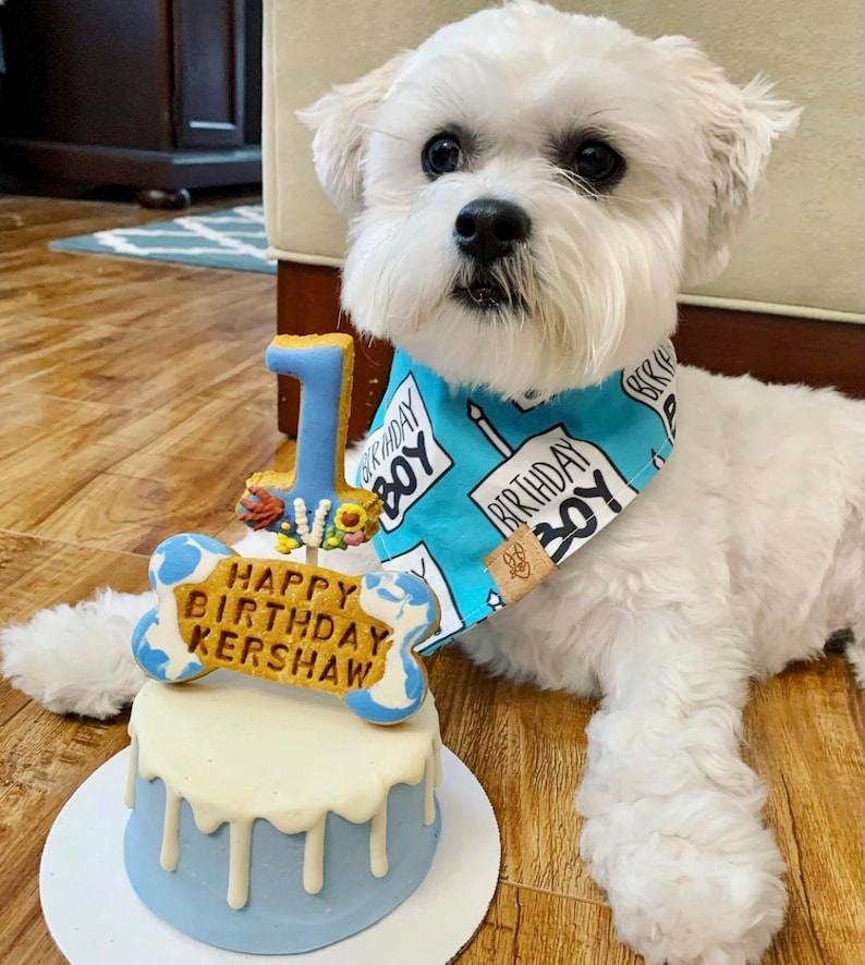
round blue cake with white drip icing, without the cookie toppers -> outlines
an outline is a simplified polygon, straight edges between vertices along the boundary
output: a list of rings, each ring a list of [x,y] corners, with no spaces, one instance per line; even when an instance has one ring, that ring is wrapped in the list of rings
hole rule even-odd
[[[441,777],[430,695],[381,728],[328,694],[217,671],[147,683],[130,734],[129,878],[203,942],[317,949],[387,915],[429,869]]]

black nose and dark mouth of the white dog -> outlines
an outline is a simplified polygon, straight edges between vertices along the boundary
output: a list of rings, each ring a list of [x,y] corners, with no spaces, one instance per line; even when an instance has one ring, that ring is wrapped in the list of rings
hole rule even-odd
[[[521,304],[490,270],[527,241],[532,231],[528,215],[513,201],[501,198],[475,198],[456,216],[453,237],[474,268],[468,284],[453,290],[453,297],[470,308],[480,310],[516,307]]]

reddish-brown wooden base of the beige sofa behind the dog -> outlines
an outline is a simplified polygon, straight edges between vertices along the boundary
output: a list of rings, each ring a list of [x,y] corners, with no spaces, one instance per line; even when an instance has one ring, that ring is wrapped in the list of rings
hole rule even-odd
[[[309,334],[351,328],[339,312],[338,269],[280,261],[277,291],[279,332]],[[865,399],[865,325],[682,305],[674,342],[680,362],[719,375],[831,386]],[[358,345],[350,440],[360,438],[373,418],[391,354],[382,342]],[[294,435],[300,394],[293,379],[280,379],[279,400],[279,427]]]

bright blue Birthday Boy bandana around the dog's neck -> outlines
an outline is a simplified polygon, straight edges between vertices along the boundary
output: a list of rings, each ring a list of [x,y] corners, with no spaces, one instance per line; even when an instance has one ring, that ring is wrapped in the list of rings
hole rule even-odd
[[[598,386],[538,403],[453,390],[397,352],[357,485],[383,501],[386,569],[432,587],[429,653],[516,602],[645,488],[675,437],[675,354],[663,341]]]

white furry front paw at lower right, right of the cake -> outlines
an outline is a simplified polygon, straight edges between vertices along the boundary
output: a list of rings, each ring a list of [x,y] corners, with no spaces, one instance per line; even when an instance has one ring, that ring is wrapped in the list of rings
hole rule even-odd
[[[590,819],[583,833],[620,940],[646,965],[758,963],[787,907],[771,833],[729,799],[726,814],[704,802],[667,821],[642,804]]]

